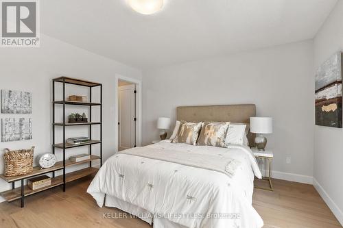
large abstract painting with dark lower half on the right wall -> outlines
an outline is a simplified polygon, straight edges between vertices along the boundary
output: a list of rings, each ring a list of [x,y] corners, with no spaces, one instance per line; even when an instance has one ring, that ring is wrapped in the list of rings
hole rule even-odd
[[[316,125],[342,128],[342,52],[316,72]]]

